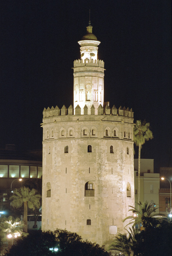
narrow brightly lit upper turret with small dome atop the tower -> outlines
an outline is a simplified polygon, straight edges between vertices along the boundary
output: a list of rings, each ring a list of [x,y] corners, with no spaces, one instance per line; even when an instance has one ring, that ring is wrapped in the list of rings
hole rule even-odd
[[[87,107],[90,114],[91,108],[95,108],[97,114],[98,107],[100,104],[103,106],[104,99],[104,62],[98,60],[100,41],[92,34],[90,21],[87,34],[78,43],[81,46],[81,59],[74,61],[73,68],[74,109],[79,105],[83,114],[84,107]]]

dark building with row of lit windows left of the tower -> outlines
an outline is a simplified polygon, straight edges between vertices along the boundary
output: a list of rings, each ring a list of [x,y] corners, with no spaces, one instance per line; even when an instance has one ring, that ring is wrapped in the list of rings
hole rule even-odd
[[[5,196],[11,189],[21,187],[26,179],[41,177],[42,150],[21,153],[11,144],[0,149],[0,209],[5,208]]]

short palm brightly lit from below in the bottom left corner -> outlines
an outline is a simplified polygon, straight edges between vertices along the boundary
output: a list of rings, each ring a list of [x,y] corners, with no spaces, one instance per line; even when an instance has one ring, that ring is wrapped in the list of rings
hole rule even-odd
[[[4,217],[1,219],[0,229],[1,235],[3,236],[2,241],[7,240],[8,236],[8,248],[11,248],[14,238],[20,237],[23,234],[23,227],[24,223],[22,223],[19,218],[15,219],[14,217],[9,216],[8,218]]]

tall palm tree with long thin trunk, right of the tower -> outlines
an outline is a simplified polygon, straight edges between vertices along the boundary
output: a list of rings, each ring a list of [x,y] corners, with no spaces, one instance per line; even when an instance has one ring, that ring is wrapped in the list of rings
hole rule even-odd
[[[152,131],[150,131],[150,124],[137,120],[134,125],[134,143],[138,146],[138,203],[140,202],[140,153],[142,145],[146,140],[153,139]]]

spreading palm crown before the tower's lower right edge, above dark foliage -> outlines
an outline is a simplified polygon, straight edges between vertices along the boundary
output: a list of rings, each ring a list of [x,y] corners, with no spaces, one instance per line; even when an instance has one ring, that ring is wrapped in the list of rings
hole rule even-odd
[[[154,213],[159,207],[155,208],[152,203],[148,204],[148,202],[146,201],[145,203],[139,202],[139,203],[137,203],[137,205],[138,205],[138,208],[130,206],[131,209],[129,211],[132,211],[133,215],[128,216],[123,220],[123,222],[124,222],[124,221],[126,221],[126,219],[131,219],[131,222],[128,223],[127,225],[130,225],[133,223],[133,226],[135,226],[137,224],[139,225],[140,223],[142,223],[142,226],[144,227],[143,217],[152,218],[154,216],[159,215],[158,213]]]

